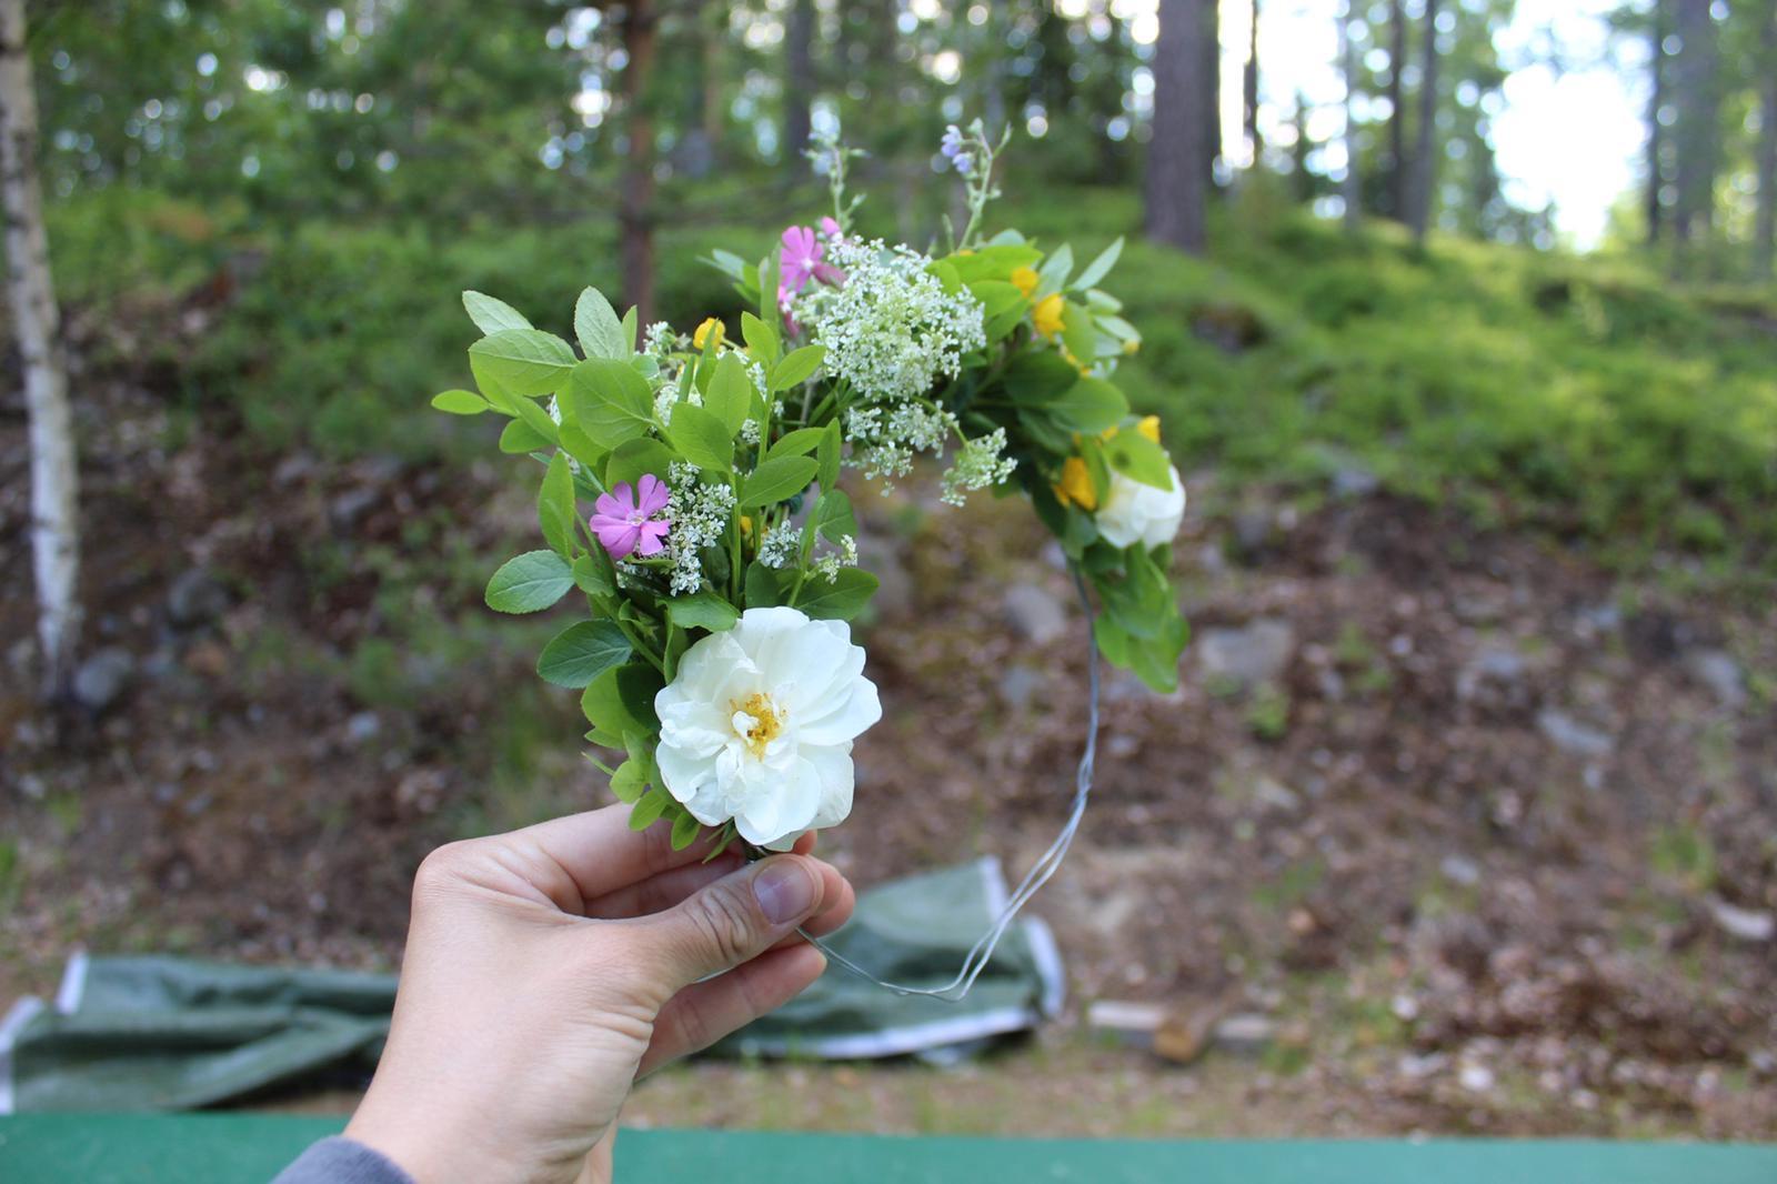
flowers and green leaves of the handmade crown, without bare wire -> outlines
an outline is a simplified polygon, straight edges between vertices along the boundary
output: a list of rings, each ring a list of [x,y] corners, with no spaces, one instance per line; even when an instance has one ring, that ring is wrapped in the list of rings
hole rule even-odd
[[[1096,594],[1104,658],[1176,684],[1187,626],[1167,567],[1185,491],[1159,418],[1132,416],[1111,380],[1141,345],[1098,288],[1123,244],[1075,270],[1064,244],[984,238],[1000,148],[981,121],[945,132],[968,222],[933,258],[851,231],[858,153],[817,139],[832,215],[757,265],[709,260],[757,309],[739,341],[714,318],[641,334],[634,309],[586,288],[576,354],[464,293],[485,334],[469,347],[480,393],[432,404],[508,416],[501,452],[544,466],[547,548],[501,565],[487,603],[533,613],[585,596],[537,672],[581,692],[586,740],[626,754],[595,763],[633,827],[665,821],[677,848],[711,828],[713,852],[785,850],[851,811],[851,743],[881,708],[846,624],[876,592],[846,468],[887,492],[919,453],[949,453],[952,505],[1022,489]]]

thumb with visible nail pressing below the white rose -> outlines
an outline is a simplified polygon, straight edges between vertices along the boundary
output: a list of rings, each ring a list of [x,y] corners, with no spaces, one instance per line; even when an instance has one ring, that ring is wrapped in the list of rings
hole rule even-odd
[[[825,894],[812,859],[775,855],[649,917],[641,940],[672,994],[771,949],[821,908]]]

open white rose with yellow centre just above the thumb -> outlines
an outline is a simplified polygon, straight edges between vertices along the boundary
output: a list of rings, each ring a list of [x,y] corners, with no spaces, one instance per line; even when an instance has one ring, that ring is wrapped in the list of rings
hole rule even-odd
[[[851,629],[794,608],[748,608],[691,645],[654,709],[666,791],[773,850],[851,812],[851,741],[881,718]]]

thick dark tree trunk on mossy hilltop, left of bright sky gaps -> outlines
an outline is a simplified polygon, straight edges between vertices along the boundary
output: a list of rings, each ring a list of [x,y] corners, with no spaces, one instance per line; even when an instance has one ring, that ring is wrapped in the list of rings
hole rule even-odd
[[[1148,236],[1203,254],[1208,178],[1208,121],[1203,100],[1203,7],[1212,0],[1160,0],[1153,46],[1153,137],[1148,144]]]

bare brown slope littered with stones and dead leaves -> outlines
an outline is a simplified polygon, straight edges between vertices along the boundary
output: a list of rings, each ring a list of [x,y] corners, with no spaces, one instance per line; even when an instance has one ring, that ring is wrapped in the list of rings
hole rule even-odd
[[[0,409],[0,1008],[75,948],[391,969],[430,846],[608,800],[530,672],[549,622],[480,608],[535,530],[514,469],[243,462],[133,388],[84,414],[107,656],[48,720]],[[1614,572],[1361,469],[1187,484],[1183,686],[1107,677],[1093,805],[1034,903],[1066,1013],[949,1070],[689,1065],[633,1120],[1777,1136],[1770,588]],[[823,853],[860,885],[1016,871],[1082,741],[1066,574],[1016,500],[860,503],[885,720]],[[1095,999],[1267,1035],[1169,1065],[1093,1033]]]

